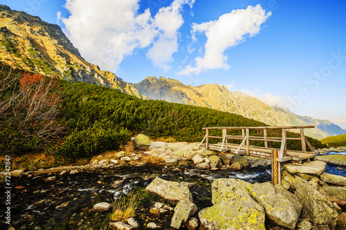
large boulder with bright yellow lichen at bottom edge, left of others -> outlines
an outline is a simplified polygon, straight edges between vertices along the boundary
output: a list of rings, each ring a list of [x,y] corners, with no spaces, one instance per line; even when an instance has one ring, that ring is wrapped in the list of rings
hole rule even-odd
[[[199,212],[200,229],[265,229],[263,207],[241,189]]]

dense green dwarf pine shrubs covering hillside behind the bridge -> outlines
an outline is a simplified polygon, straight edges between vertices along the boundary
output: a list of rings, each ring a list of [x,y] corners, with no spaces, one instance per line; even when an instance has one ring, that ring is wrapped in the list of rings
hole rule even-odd
[[[120,93],[119,90],[86,83],[57,81],[52,93],[60,97],[57,122],[65,127],[65,132],[63,138],[58,141],[52,139],[44,150],[46,153],[70,160],[116,149],[120,144],[125,144],[131,135],[138,133],[144,133],[153,138],[173,137],[176,141],[199,142],[205,135],[203,127],[266,126],[262,122],[232,113],[198,106],[138,99]],[[5,124],[6,122],[1,122],[2,126]],[[221,135],[218,132],[212,131],[210,134]],[[232,131],[228,134],[240,135],[239,132],[241,131]],[[21,146],[19,137],[12,139],[9,143],[5,138],[8,135],[12,135],[8,133],[8,129],[2,129],[0,141],[16,144],[16,148],[12,148],[15,153],[35,151],[37,138],[36,140],[26,138],[25,146]],[[17,135],[20,136],[20,133]],[[251,135],[262,135],[262,133],[252,130]],[[281,133],[274,130],[268,135],[277,136]],[[299,136],[295,133],[288,135]],[[317,140],[308,139],[316,148],[324,147]],[[240,140],[234,142],[239,143]],[[33,144],[33,148],[28,147],[30,144]],[[262,142],[252,142],[252,144],[264,146]],[[272,146],[279,148],[280,143],[273,143]],[[0,151],[4,148],[6,148],[5,145],[0,145]],[[300,142],[290,141],[287,148],[299,150],[301,149]]]

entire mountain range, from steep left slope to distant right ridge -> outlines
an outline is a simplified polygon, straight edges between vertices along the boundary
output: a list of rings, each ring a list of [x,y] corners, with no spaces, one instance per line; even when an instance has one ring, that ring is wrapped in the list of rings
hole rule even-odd
[[[268,106],[245,93],[231,93],[217,84],[185,86],[178,80],[163,77],[147,77],[138,84],[129,84],[114,73],[102,71],[85,61],[60,26],[3,5],[0,5],[0,61],[43,75],[107,86],[136,97],[236,113],[269,125],[314,125],[316,128],[305,132],[316,139],[346,133],[327,120],[295,115],[286,108]]]

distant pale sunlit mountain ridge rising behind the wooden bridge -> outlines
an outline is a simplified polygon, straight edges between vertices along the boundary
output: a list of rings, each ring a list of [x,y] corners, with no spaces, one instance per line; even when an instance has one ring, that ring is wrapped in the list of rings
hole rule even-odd
[[[192,104],[235,113],[255,119],[272,126],[305,126],[305,134],[316,139],[329,135],[346,133],[343,128],[327,120],[295,115],[286,108],[271,107],[255,97],[239,91],[231,93],[226,86],[205,84],[203,86],[185,86],[178,80],[163,77],[147,77],[138,84],[132,84],[140,94],[149,99],[163,99],[167,102]]]

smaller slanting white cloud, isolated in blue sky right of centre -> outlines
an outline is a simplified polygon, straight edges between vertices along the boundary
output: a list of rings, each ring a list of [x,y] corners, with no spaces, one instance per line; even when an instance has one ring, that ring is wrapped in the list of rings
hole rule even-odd
[[[179,74],[199,74],[206,70],[228,69],[227,48],[237,46],[245,41],[246,37],[253,37],[260,32],[262,23],[271,16],[260,5],[248,6],[245,10],[232,10],[228,14],[221,15],[216,21],[208,21],[201,24],[192,24],[192,39],[196,39],[197,33],[204,32],[207,37],[203,57],[196,57],[196,66],[188,65]]]

